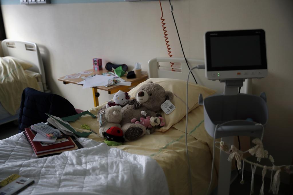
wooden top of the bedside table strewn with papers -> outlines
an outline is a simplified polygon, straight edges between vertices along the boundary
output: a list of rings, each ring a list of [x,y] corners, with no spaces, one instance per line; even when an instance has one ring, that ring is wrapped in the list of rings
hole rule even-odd
[[[89,69],[89,70],[86,70],[86,71],[93,71],[91,74],[87,74],[87,75],[81,75],[81,76],[90,76],[90,75],[93,75],[93,74],[99,74],[101,75],[102,73],[108,73],[109,71],[108,70],[101,70],[101,71],[95,71],[93,69]],[[143,81],[145,81],[147,78],[148,78],[148,73],[145,73],[144,75],[142,75],[141,77],[139,78],[126,78],[127,74],[123,75],[121,78],[124,79],[125,81],[127,82],[131,82],[131,86],[123,86],[123,85],[112,85],[112,86],[109,86],[109,87],[105,87],[105,86],[96,86],[95,88],[97,89],[100,89],[100,90],[105,90],[105,91],[118,91],[120,90],[121,87],[125,88],[125,87],[132,87],[134,85],[137,85],[138,83],[141,83]],[[68,84],[68,83],[73,83],[73,84],[77,84],[81,81],[83,81],[83,79],[80,77],[80,78],[66,78],[64,79],[65,76],[62,76],[60,78],[58,78],[58,81],[63,81],[64,84]],[[112,94],[112,93],[109,93],[109,94]]]

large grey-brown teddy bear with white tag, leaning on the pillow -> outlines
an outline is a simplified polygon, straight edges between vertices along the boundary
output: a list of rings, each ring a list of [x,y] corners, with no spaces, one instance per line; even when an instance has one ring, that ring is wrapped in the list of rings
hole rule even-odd
[[[150,129],[150,133],[155,131],[155,126],[160,124],[160,119],[157,118],[158,114],[156,112],[161,110],[161,104],[163,102],[173,99],[173,93],[165,91],[161,85],[151,82],[142,85],[135,97],[135,100],[130,100],[121,109],[123,117],[120,124],[126,141],[136,140],[147,133],[146,127],[142,124],[131,123],[131,119],[139,119],[143,111],[145,111],[143,113],[147,116],[155,117],[151,121],[153,128]]]

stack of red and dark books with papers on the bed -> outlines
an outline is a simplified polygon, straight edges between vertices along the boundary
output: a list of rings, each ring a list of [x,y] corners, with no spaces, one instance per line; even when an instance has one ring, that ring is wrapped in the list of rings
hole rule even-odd
[[[61,136],[55,139],[48,139],[45,136],[39,135],[39,133],[31,128],[25,128],[23,134],[28,138],[37,157],[49,156],[64,151],[83,148],[81,144],[75,140],[74,136],[61,134]]]

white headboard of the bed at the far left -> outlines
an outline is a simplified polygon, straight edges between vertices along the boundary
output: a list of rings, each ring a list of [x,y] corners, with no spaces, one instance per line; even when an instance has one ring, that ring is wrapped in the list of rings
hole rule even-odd
[[[40,73],[44,91],[47,91],[46,76],[40,50],[33,42],[5,39],[2,41],[4,56],[12,56],[33,65],[30,71]]]

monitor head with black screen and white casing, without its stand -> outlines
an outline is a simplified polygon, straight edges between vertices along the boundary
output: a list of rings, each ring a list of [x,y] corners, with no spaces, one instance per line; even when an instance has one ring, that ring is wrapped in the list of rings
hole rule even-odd
[[[268,75],[264,30],[210,31],[205,33],[204,43],[207,79]]]

